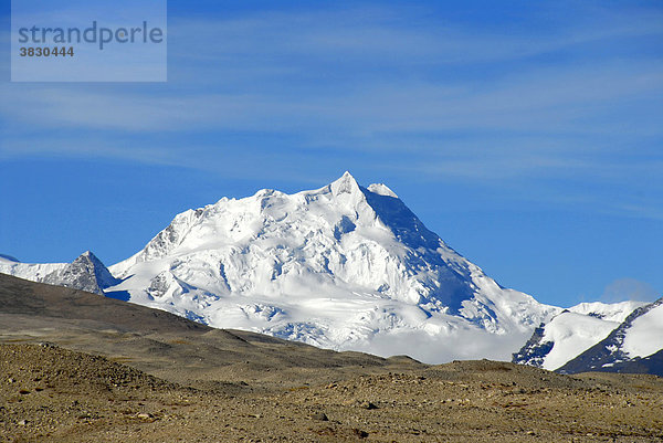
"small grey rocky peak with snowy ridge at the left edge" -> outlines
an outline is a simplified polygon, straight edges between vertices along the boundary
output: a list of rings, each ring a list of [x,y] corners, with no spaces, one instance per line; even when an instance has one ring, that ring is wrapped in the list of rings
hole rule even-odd
[[[119,283],[90,251],[72,263],[20,263],[4,255],[0,256],[0,273],[99,295],[104,288]]]

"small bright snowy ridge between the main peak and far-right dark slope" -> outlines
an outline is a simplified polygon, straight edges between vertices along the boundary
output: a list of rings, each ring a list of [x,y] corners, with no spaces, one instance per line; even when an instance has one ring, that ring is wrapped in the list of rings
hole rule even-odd
[[[642,302],[582,303],[539,326],[513,362],[556,370],[606,338]]]

